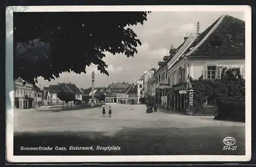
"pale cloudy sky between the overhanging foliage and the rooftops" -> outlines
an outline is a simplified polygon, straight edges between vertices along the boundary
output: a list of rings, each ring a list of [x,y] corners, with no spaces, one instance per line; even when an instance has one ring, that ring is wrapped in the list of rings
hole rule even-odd
[[[109,65],[106,69],[109,76],[100,73],[96,66],[91,65],[86,68],[86,74],[62,73],[59,78],[50,82],[38,77],[37,85],[42,88],[71,82],[78,88],[89,88],[92,86],[92,71],[95,72],[95,87],[108,87],[112,82],[123,81],[136,84],[136,80],[144,71],[158,68],[158,62],[163,60],[164,55],[168,55],[171,45],[177,48],[184,41],[184,37],[196,33],[197,22],[200,22],[200,32],[203,32],[222,14],[245,20],[244,12],[152,12],[148,14],[143,25],[132,26],[142,42],[142,45],[137,47],[138,53],[134,57],[105,53],[106,57],[103,60]]]

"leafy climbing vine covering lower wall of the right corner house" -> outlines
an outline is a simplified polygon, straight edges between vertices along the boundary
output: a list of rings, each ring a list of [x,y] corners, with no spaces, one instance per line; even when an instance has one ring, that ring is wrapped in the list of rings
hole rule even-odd
[[[242,78],[239,68],[222,68],[221,79],[189,78],[194,90],[194,105],[202,105],[207,97],[218,98],[244,98],[245,79]]]

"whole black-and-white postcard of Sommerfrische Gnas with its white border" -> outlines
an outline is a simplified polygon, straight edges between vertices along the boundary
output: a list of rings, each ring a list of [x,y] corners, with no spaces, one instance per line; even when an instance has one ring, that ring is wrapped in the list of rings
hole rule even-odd
[[[248,6],[6,9],[10,162],[248,161]]]

